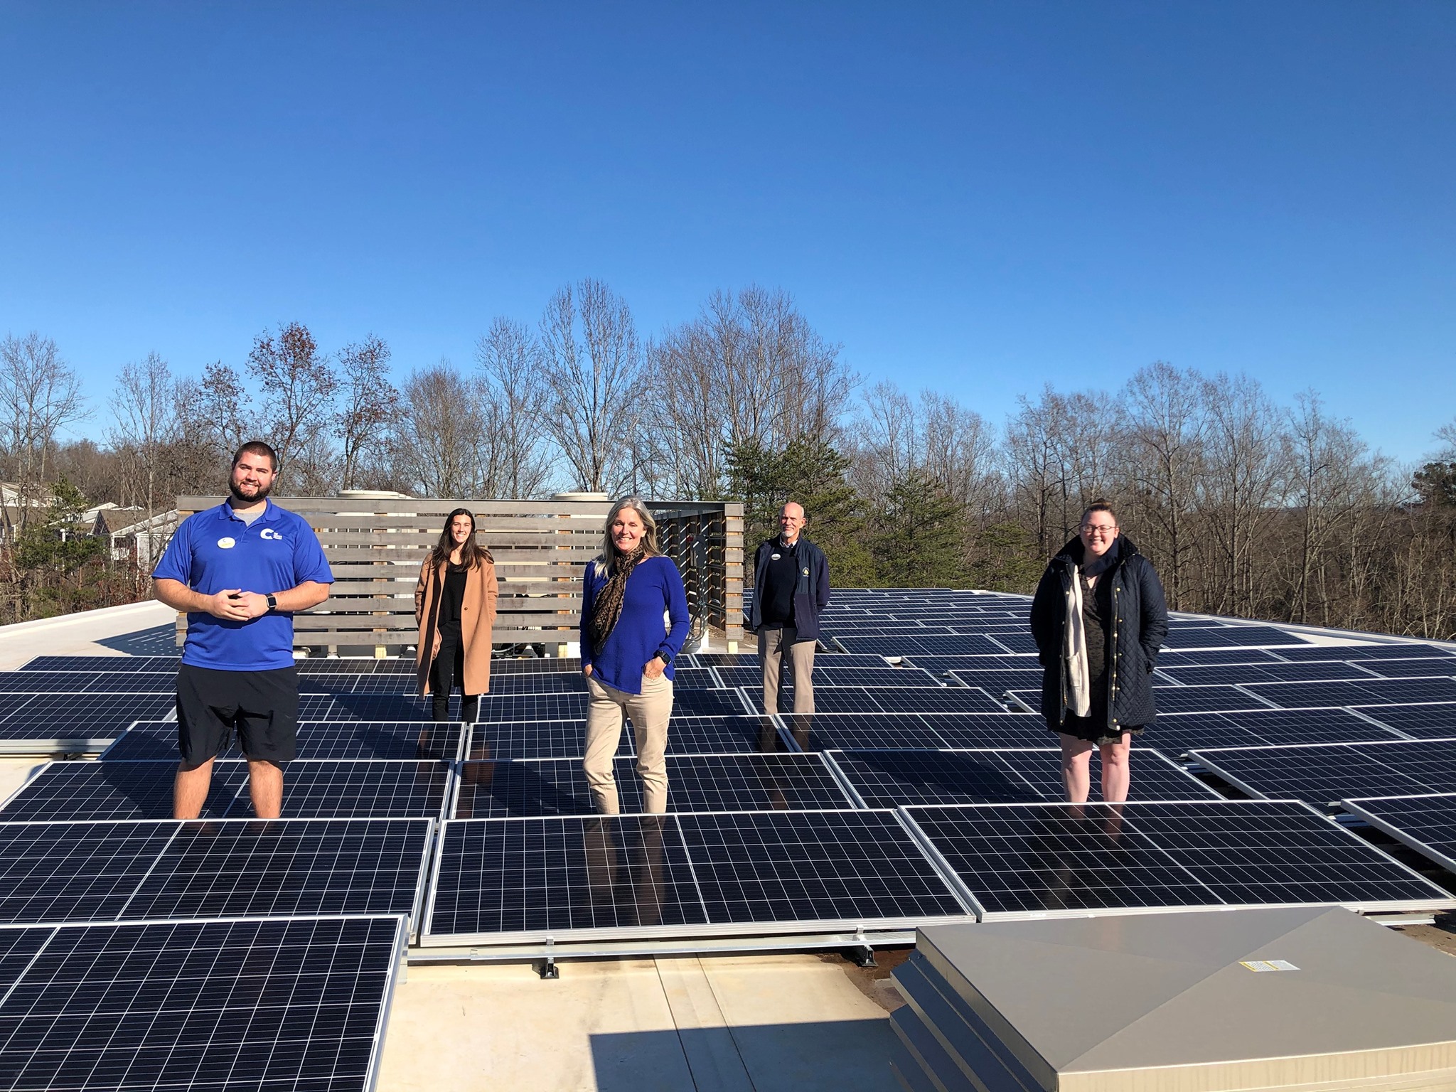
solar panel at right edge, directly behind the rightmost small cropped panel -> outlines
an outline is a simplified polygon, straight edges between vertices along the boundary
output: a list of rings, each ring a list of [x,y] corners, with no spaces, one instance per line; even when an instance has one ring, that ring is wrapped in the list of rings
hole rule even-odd
[[[1316,805],[1456,792],[1456,740],[1207,748],[1192,757],[1255,796],[1296,796]]]

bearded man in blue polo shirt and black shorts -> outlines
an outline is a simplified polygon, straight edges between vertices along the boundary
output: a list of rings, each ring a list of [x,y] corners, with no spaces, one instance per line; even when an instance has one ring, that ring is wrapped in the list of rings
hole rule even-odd
[[[309,523],[268,502],[277,475],[268,444],[243,444],[233,456],[232,496],[183,520],[151,574],[157,598],[186,612],[176,818],[202,811],[213,759],[234,729],[253,812],[277,818],[282,810],[282,763],[293,759],[298,728],[293,612],[323,603],[333,574]]]

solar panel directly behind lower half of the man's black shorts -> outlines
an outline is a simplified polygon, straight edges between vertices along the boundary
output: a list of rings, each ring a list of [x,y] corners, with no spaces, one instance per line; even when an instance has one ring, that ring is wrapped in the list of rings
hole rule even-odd
[[[464,725],[419,721],[303,721],[300,759],[459,759]],[[102,761],[176,761],[178,727],[170,721],[138,721],[102,751]],[[218,757],[242,759],[236,738]]]

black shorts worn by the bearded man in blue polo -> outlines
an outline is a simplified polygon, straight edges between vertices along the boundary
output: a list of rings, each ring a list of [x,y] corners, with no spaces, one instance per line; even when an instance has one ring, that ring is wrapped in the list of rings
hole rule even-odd
[[[243,754],[266,761],[293,759],[298,735],[298,668],[217,671],[182,664],[178,670],[178,750],[182,769],[215,759],[233,740]]]

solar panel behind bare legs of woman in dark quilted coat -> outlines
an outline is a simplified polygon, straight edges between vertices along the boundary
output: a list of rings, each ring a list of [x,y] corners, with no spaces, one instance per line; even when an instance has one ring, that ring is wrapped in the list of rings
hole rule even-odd
[[[1203,782],[1152,748],[1133,751],[1131,799],[1217,796]],[[994,804],[1066,798],[1061,751],[833,751],[834,763],[871,808],[901,804]],[[1096,767],[1096,761],[1093,761]],[[1093,798],[1099,796],[1092,770]]]

